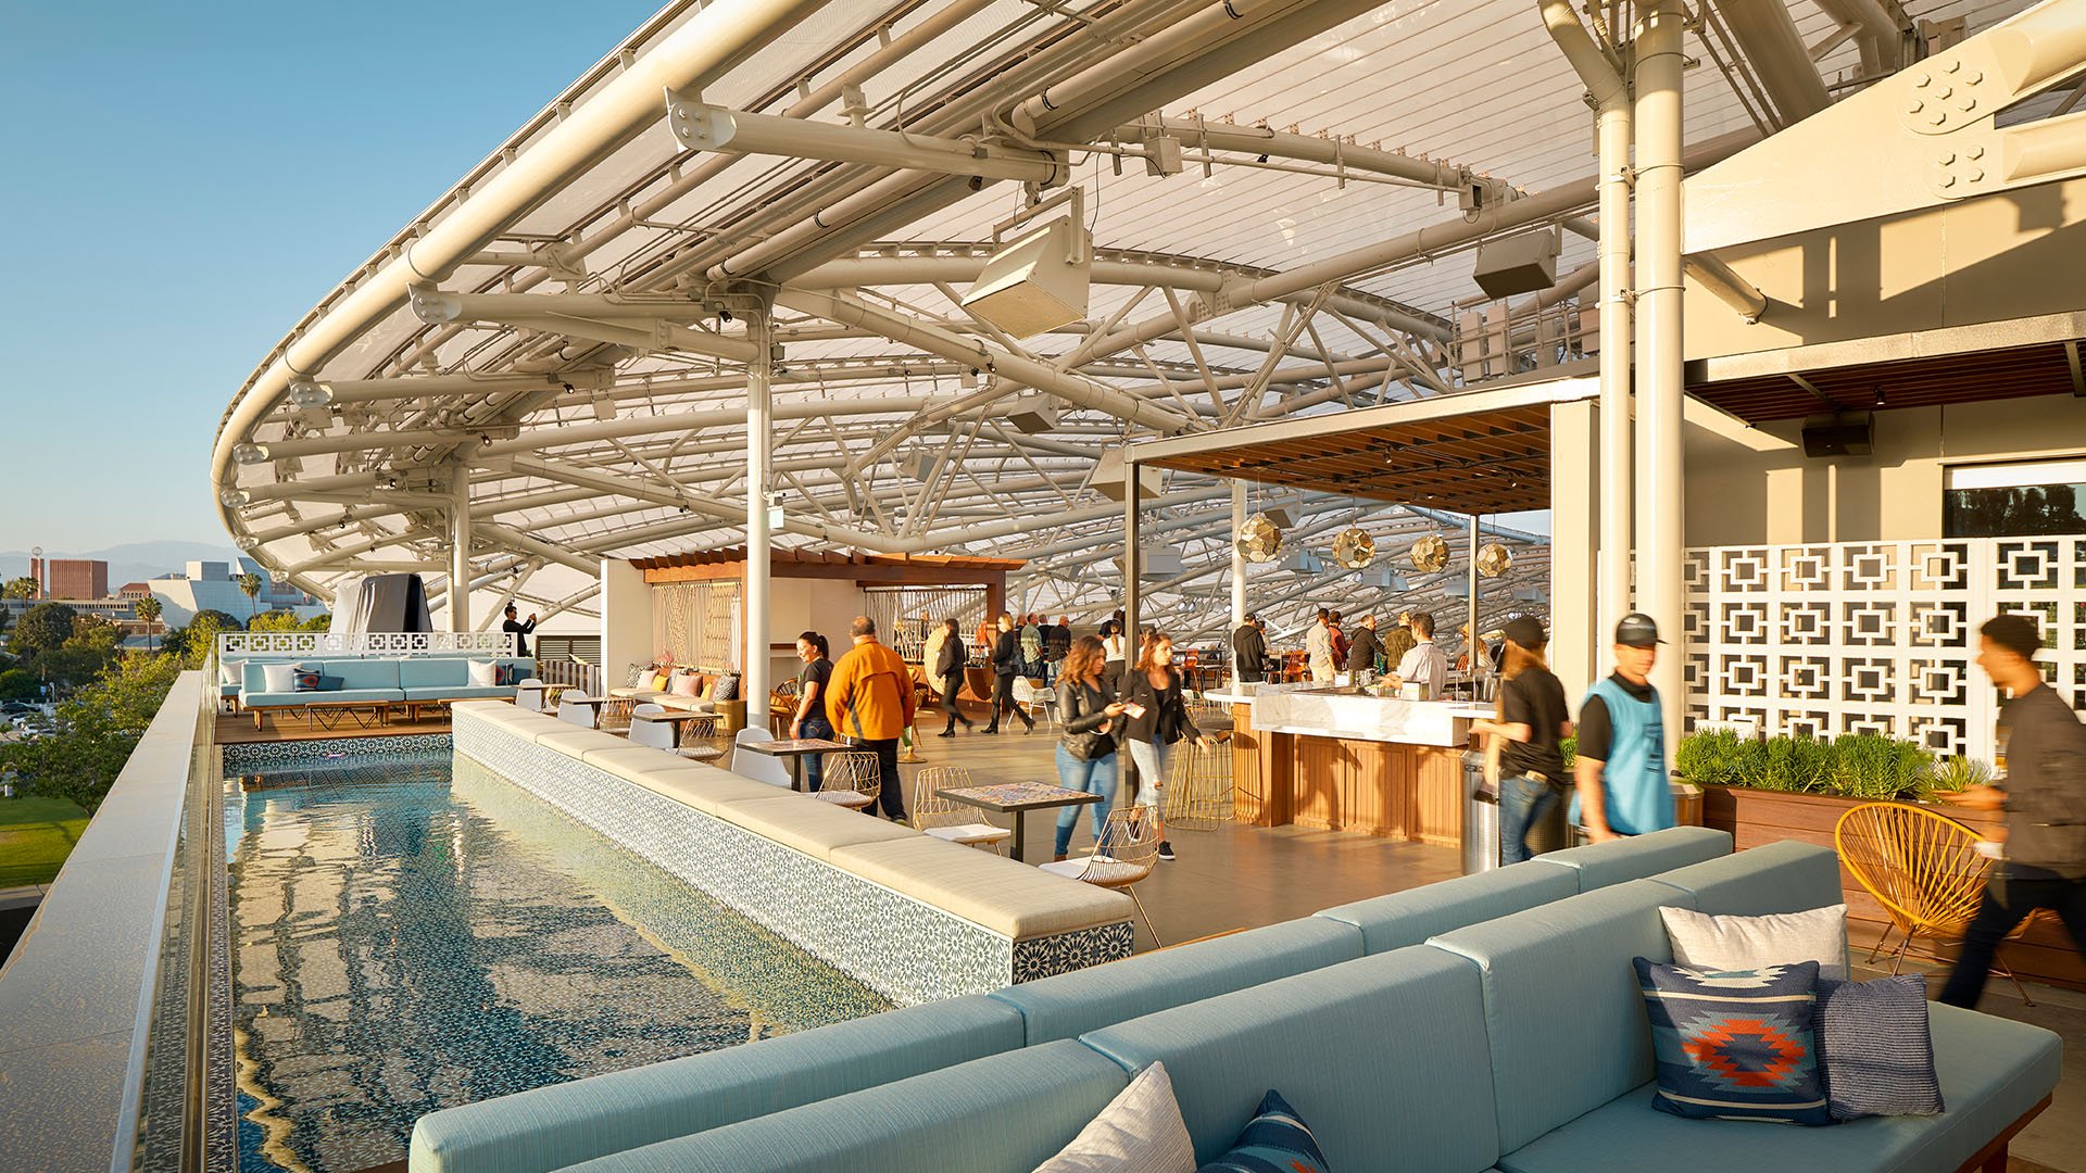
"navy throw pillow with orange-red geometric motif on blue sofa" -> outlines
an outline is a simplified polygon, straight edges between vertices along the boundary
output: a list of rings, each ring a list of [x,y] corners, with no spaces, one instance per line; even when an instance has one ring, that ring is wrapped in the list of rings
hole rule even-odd
[[[1829,1125],[1811,1019],[1819,962],[1698,971],[1635,958],[1652,1106],[1690,1119]]]

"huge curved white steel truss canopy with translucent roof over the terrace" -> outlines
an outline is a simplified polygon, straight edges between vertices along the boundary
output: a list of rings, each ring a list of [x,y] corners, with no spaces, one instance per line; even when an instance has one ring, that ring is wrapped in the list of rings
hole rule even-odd
[[[1698,4],[1685,161],[1902,67],[1921,19],[2023,6]],[[1583,10],[1623,63],[1627,6]],[[319,595],[467,584],[457,630],[507,601],[592,614],[601,557],[757,543],[761,503],[778,545],[1026,557],[1018,609],[1106,614],[1112,447],[1462,390],[1489,240],[1558,232],[1560,282],[1527,305],[1581,296],[1610,228],[1587,219],[1581,98],[1535,0],[676,0],[263,359],[213,493],[242,549]],[[1066,186],[1089,317],[1012,338],[964,290],[993,223]],[[1462,528],[1277,503],[1291,543],[1360,522],[1387,559]],[[1143,584],[1147,616],[1229,622],[1231,524],[1227,486],[1166,478],[1141,530],[1183,570]],[[1533,597],[1546,538],[1498,538],[1500,597]],[[1268,574],[1277,628],[1383,597]],[[1460,584],[1450,566],[1400,601]]]

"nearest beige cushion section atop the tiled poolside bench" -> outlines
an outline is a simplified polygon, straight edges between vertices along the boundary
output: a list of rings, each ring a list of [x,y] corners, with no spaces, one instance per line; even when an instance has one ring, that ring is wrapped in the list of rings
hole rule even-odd
[[[1016,941],[1129,920],[1131,897],[920,835],[839,847],[834,866]]]

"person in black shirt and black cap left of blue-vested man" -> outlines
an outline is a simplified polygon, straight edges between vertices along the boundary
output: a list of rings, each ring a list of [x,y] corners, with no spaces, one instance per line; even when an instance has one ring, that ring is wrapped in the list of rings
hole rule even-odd
[[[1560,743],[1571,737],[1564,685],[1550,672],[1544,647],[1550,637],[1533,618],[1506,624],[1506,668],[1498,720],[1471,722],[1500,747],[1500,862],[1529,858],[1529,827],[1562,801],[1573,781],[1564,774]]]

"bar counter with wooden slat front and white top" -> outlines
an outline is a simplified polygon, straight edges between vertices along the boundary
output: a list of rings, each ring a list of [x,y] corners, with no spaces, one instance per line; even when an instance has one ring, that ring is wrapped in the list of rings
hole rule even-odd
[[[1462,751],[1491,705],[1406,701],[1329,685],[1210,693],[1231,703],[1235,816],[1456,847]]]

